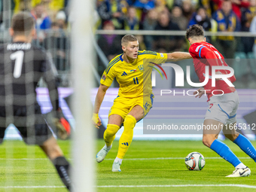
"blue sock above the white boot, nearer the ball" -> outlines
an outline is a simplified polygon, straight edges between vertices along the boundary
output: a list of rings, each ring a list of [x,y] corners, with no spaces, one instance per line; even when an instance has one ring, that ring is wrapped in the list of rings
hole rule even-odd
[[[211,149],[219,154],[222,158],[224,158],[224,160],[230,162],[234,167],[241,163],[241,161],[236,157],[235,154],[233,154],[230,148],[218,139],[215,139],[215,141],[212,142]]]

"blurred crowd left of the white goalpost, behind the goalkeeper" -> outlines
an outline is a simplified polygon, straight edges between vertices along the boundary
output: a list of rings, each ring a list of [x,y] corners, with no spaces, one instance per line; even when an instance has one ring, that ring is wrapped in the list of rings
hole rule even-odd
[[[5,1],[5,0],[4,0]],[[6,30],[10,20],[5,17],[6,4],[11,2],[11,14],[29,11],[35,18],[37,35],[33,43],[44,47],[53,56],[53,62],[60,71],[69,69],[68,0],[10,0],[0,1],[0,30]],[[5,5],[4,5],[5,4]],[[8,14],[7,14],[8,17]],[[5,40],[4,40],[5,41]]]

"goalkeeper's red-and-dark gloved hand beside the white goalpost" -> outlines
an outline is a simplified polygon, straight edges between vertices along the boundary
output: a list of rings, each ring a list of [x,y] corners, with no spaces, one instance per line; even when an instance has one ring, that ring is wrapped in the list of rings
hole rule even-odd
[[[61,108],[56,111],[56,118],[54,118],[53,123],[56,126],[57,136],[59,139],[67,139],[71,133],[71,126],[69,121],[66,120]]]

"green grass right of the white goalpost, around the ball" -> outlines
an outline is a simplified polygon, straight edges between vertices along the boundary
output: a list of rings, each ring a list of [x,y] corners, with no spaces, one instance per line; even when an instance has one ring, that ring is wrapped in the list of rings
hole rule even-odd
[[[239,147],[229,141],[225,143],[237,157],[248,157]],[[256,142],[252,142],[256,146]],[[98,151],[104,145],[99,141]],[[111,166],[117,155],[118,142],[106,159],[97,166],[97,185],[184,185],[184,184],[246,184],[256,186],[256,163],[249,158],[242,162],[251,169],[251,176],[246,178],[225,178],[234,168],[227,161],[216,158],[214,151],[206,148],[202,142],[194,141],[133,141],[120,166],[122,172],[111,172]],[[184,158],[190,152],[197,151],[206,159],[202,171],[189,171]],[[156,157],[182,157],[176,160],[129,160]],[[112,160],[109,160],[112,159]],[[98,191],[256,191],[245,187],[104,187]]]

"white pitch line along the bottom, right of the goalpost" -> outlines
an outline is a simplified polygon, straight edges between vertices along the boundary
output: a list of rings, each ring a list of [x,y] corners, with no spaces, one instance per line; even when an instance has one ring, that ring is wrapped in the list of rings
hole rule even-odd
[[[256,186],[246,184],[166,184],[166,185],[99,185],[99,188],[107,187],[244,187],[256,189]]]

